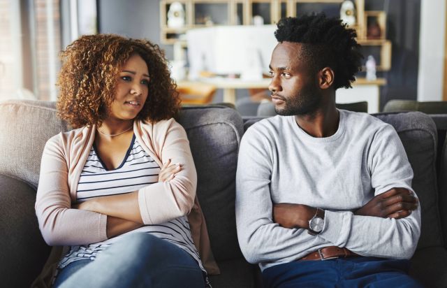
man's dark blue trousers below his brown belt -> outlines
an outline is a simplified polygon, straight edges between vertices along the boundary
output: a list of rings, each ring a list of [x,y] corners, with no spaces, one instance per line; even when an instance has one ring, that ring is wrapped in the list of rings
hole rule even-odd
[[[272,266],[263,271],[266,288],[422,288],[406,274],[408,260],[352,257],[302,260]]]

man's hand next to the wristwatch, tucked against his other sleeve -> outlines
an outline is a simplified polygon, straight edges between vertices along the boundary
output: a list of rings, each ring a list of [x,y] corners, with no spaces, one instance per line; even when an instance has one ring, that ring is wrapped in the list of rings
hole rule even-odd
[[[273,205],[273,221],[284,228],[309,229],[309,220],[314,217],[316,208],[292,203]]]

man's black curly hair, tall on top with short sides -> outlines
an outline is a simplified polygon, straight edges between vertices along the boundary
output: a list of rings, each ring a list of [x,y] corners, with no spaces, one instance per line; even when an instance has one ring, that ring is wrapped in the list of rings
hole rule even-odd
[[[302,43],[302,58],[313,72],[330,67],[335,74],[333,87],[351,88],[360,71],[362,54],[356,31],[336,17],[325,14],[286,17],[279,20],[274,36],[282,43]]]

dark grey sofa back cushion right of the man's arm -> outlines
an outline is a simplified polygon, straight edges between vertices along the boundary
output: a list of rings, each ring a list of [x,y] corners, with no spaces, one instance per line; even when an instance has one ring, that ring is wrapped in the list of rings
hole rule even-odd
[[[442,245],[436,178],[437,131],[433,120],[420,112],[375,116],[396,129],[413,168],[411,186],[418,194],[422,217],[418,249]]]

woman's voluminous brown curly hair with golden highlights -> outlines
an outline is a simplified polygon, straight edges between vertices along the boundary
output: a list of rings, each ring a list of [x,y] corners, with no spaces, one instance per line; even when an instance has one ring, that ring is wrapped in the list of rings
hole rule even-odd
[[[150,79],[149,94],[136,119],[157,122],[174,117],[179,94],[159,45],[114,34],[82,36],[61,52],[59,117],[73,128],[101,126],[115,99],[117,75],[135,54],[146,62]]]

